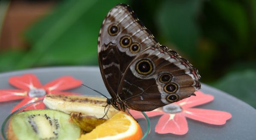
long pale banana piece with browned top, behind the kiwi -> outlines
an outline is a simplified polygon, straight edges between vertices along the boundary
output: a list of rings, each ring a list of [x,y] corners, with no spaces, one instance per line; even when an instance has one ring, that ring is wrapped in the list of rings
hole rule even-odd
[[[93,115],[97,118],[102,118],[105,115],[104,109],[107,105],[106,98],[94,96],[79,96],[79,95],[46,95],[44,104],[49,109],[59,110],[67,114],[82,113],[82,115]],[[106,107],[106,111],[109,106]],[[108,117],[111,118],[118,110],[110,106]]]

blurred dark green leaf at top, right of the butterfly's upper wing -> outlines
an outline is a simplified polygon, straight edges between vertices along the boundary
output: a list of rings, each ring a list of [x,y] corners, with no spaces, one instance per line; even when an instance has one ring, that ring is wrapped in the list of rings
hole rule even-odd
[[[190,57],[196,54],[199,37],[196,17],[201,3],[201,0],[166,0],[156,14],[160,33]]]

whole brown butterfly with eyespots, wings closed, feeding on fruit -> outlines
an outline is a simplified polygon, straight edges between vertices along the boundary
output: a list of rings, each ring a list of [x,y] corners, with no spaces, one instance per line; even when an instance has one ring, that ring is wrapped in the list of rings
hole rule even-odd
[[[160,45],[126,4],[112,8],[98,38],[99,67],[118,110],[151,111],[195,95],[198,70]]]

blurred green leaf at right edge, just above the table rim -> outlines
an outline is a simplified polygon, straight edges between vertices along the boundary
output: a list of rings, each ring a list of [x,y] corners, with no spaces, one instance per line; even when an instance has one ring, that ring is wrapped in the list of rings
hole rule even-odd
[[[228,73],[213,86],[256,108],[256,70]]]

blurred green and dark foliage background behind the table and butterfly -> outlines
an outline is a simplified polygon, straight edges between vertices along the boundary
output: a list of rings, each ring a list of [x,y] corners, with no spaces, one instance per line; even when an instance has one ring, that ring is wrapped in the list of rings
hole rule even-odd
[[[129,4],[201,81],[256,108],[256,0],[0,0],[0,73],[98,65],[108,11]]]

